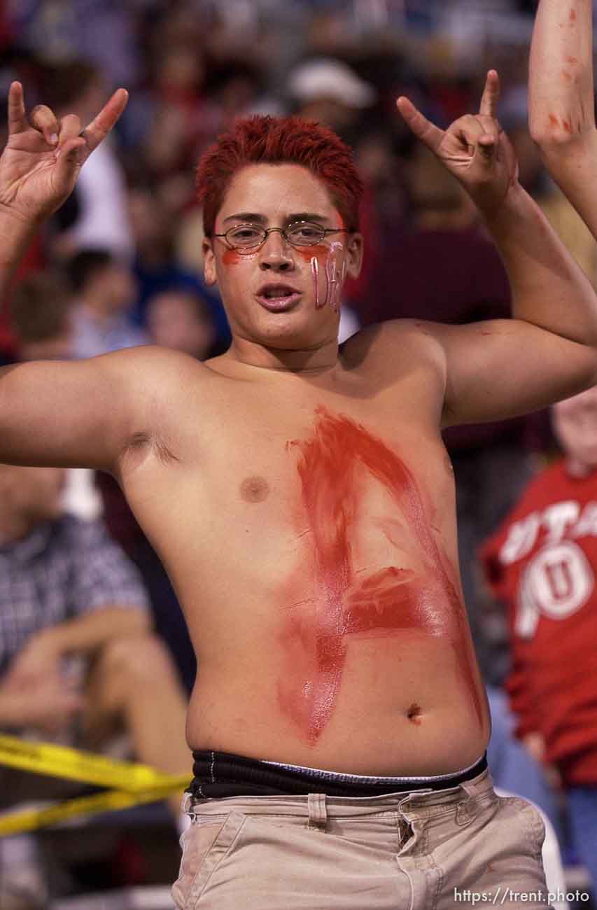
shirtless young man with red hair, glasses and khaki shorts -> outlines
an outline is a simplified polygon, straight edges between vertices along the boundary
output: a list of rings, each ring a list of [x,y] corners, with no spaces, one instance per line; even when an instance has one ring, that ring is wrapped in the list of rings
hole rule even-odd
[[[480,115],[446,133],[399,107],[480,207],[515,319],[390,322],[339,349],[359,179],[327,130],[258,118],[199,167],[225,355],[0,371],[0,460],[111,471],[184,605],[199,672],[179,907],[447,908],[472,891],[547,905],[541,821],[496,798],[481,758],[440,428],[594,384],[597,300],[518,184],[497,96],[491,72]],[[125,103],[79,136],[44,107],[30,125],[11,87],[6,275]]]

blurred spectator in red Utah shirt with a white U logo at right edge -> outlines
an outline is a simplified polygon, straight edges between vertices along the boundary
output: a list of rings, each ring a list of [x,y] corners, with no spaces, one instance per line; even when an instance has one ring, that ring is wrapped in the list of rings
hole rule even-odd
[[[482,549],[508,607],[516,733],[567,795],[597,888],[597,389],[552,409],[563,458],[541,471]]]

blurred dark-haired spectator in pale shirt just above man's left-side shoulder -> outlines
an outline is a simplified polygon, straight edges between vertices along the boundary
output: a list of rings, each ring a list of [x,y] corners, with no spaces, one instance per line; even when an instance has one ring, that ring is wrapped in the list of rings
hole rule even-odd
[[[136,285],[125,262],[106,249],[86,249],[70,259],[66,271],[75,298],[73,357],[148,344],[147,334],[128,316]]]

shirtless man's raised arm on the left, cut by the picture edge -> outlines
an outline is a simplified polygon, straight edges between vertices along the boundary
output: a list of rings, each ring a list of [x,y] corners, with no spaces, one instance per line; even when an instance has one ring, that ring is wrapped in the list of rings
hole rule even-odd
[[[77,116],[58,120],[46,106],[27,116],[23,87],[10,86],[0,157],[0,298],[35,231],[72,192],[86,157],[125,106],[126,92],[118,89],[82,129]],[[144,383],[137,378],[147,376],[141,361],[149,359],[150,367],[156,357],[144,349],[0,369],[0,461],[113,470],[145,429]]]

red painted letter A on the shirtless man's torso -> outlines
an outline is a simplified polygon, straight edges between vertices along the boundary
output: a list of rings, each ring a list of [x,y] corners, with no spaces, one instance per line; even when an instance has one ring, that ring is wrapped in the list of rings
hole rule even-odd
[[[416,481],[400,458],[359,424],[325,408],[316,413],[312,437],[288,444],[288,451],[299,453],[298,477],[313,541],[309,573],[315,597],[291,605],[280,635],[287,655],[286,672],[278,683],[280,709],[309,744],[316,744],[337,703],[349,636],[396,637],[413,630],[450,642],[481,724],[481,693],[467,647],[466,613],[454,570],[430,531]],[[397,510],[388,524],[406,527],[412,562],[421,567],[417,571],[400,568],[403,546],[396,552],[398,565],[369,573],[354,566],[359,503],[371,481],[380,483],[395,503]],[[390,532],[386,537],[391,541]]]

